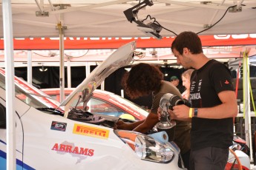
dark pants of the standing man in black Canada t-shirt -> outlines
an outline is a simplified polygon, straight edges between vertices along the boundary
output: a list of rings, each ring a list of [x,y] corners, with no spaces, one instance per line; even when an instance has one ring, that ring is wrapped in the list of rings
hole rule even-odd
[[[207,147],[191,150],[190,170],[223,170],[229,158],[229,149]]]

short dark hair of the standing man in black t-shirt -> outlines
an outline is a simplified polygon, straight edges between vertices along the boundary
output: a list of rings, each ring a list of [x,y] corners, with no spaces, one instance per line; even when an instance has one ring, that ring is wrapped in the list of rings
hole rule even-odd
[[[199,36],[191,31],[185,31],[177,35],[171,44],[171,51],[174,49],[183,55],[183,48],[188,48],[192,54],[203,52],[202,43]]]

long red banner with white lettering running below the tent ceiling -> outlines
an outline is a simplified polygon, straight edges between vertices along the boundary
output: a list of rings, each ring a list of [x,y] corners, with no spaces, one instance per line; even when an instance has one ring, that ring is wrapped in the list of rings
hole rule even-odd
[[[256,34],[243,35],[200,35],[204,47],[255,45]],[[64,41],[65,50],[116,49],[130,41],[137,41],[137,48],[171,47],[174,37],[155,38],[72,38]],[[14,50],[59,50],[59,38],[14,38]],[[4,40],[0,40],[4,50]]]

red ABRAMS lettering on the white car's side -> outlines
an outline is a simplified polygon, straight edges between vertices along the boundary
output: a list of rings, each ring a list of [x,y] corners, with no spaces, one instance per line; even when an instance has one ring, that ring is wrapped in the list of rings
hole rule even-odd
[[[82,148],[78,146],[72,146],[68,144],[59,144],[59,143],[55,143],[52,150],[57,152],[71,153],[71,154],[82,154],[90,157],[93,156],[93,152],[94,152],[94,149]]]

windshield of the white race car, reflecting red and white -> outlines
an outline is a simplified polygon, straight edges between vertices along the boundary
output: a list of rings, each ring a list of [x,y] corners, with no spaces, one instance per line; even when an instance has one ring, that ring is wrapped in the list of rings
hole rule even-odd
[[[4,69],[0,69],[0,87],[5,89],[5,77]],[[54,108],[57,109],[59,102],[54,101],[50,96],[46,95],[44,92],[36,89],[26,81],[21,78],[14,78],[15,81],[15,95],[16,98],[27,103],[34,108]]]

